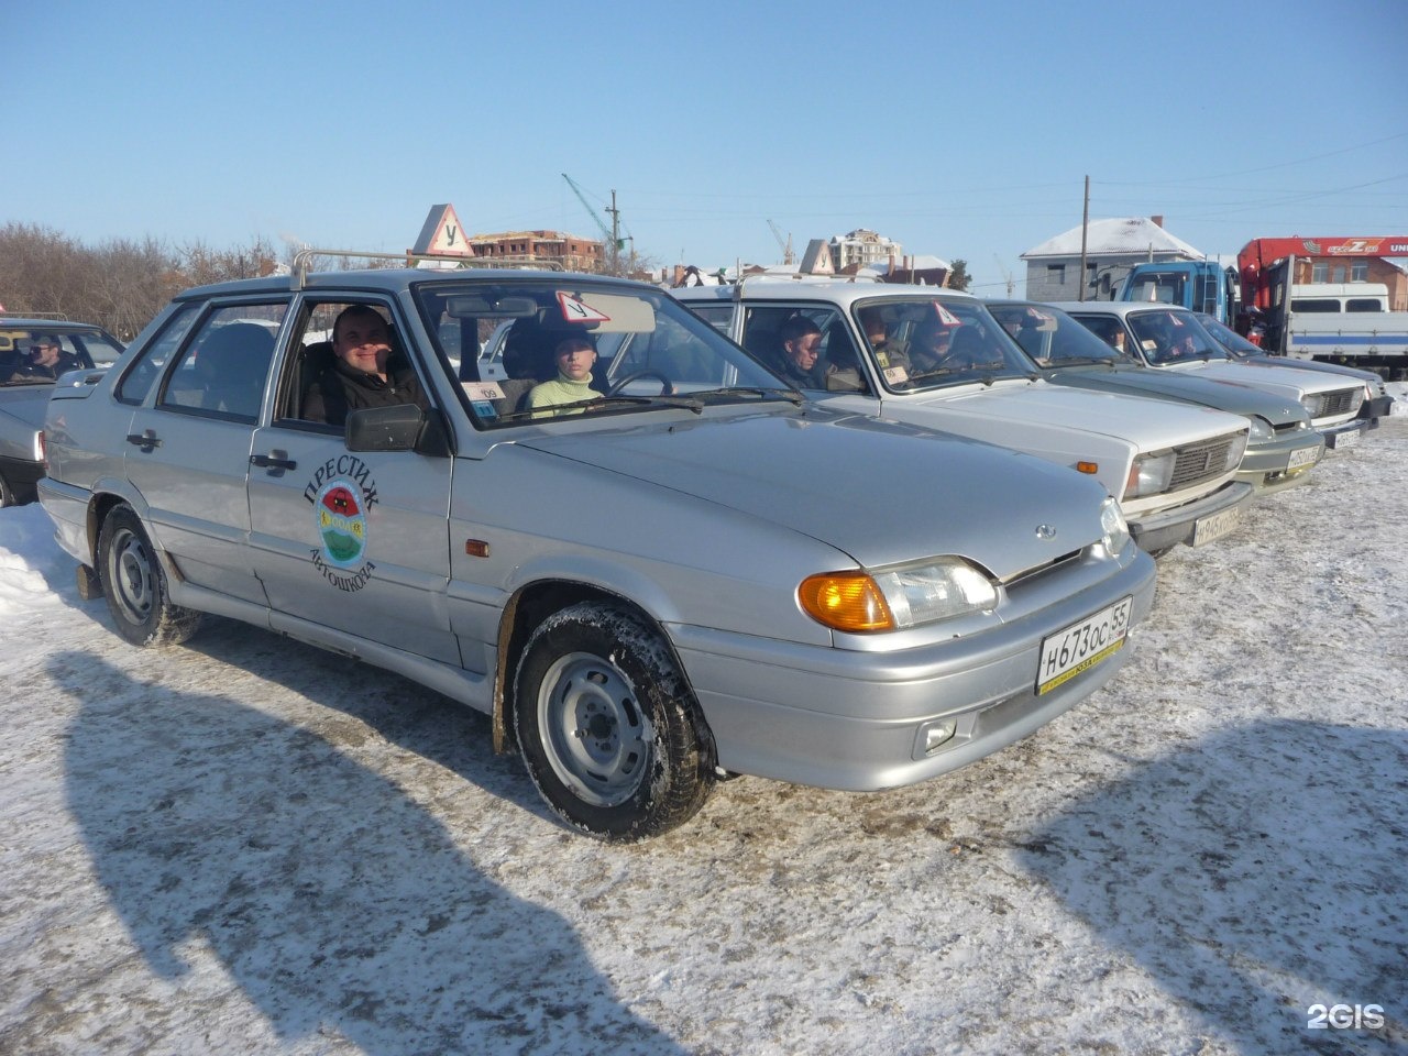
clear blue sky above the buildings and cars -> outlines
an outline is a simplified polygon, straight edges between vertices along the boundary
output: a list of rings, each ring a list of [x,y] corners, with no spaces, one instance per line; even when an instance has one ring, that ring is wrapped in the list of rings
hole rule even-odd
[[[400,252],[446,201],[597,237],[562,173],[660,265],[865,227],[980,293],[1080,224],[1087,175],[1093,220],[1207,253],[1408,232],[1398,0],[51,0],[0,37],[0,224],[86,244]]]

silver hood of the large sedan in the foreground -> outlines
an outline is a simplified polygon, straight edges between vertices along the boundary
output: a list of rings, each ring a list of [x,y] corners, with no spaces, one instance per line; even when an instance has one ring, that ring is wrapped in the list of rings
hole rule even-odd
[[[1105,490],[1073,470],[821,408],[517,445],[741,511],[865,567],[953,553],[1005,577],[1101,535]]]

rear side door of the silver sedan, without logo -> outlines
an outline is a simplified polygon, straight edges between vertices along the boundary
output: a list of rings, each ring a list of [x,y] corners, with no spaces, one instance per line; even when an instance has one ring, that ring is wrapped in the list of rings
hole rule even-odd
[[[124,469],[155,541],[187,583],[258,604],[265,594],[249,562],[245,479],[286,311],[270,301],[214,307],[199,322],[194,313],[183,317],[194,325],[169,328],[121,390],[145,393],[128,425]],[[144,387],[144,375],[153,384]]]

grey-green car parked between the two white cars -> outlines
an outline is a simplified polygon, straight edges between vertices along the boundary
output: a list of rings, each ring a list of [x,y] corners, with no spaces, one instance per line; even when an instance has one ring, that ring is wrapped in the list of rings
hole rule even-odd
[[[1247,482],[1259,493],[1304,483],[1325,452],[1325,439],[1311,427],[1309,415],[1295,400],[1232,382],[1153,370],[1048,304],[988,300],[987,308],[1022,351],[1036,360],[1043,376],[1056,384],[1150,396],[1245,417],[1250,434],[1236,479]]]

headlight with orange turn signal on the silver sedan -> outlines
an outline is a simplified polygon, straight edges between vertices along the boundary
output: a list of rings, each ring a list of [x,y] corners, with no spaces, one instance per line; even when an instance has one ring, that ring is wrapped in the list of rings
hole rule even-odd
[[[900,631],[997,605],[997,589],[960,558],[884,572],[828,572],[797,589],[803,611],[834,631]]]

